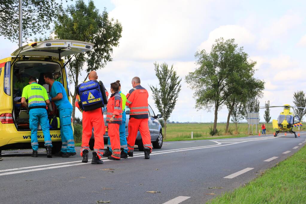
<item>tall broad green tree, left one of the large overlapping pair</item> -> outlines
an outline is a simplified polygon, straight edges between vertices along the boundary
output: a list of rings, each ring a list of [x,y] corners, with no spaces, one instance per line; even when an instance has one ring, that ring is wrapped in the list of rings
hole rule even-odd
[[[239,77],[238,70],[244,66],[254,67],[248,63],[247,54],[243,48],[238,48],[234,39],[219,38],[212,45],[210,53],[204,49],[196,52],[196,64],[199,66],[194,72],[189,72],[185,80],[195,91],[197,109],[215,109],[215,119],[212,133],[217,132],[218,110],[235,93],[233,78]],[[233,76],[233,74],[236,74]],[[233,105],[231,105],[233,107]]]

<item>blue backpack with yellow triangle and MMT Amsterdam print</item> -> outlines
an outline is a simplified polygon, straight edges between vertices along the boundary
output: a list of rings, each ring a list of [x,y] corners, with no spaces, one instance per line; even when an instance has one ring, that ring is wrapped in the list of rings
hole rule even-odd
[[[80,96],[79,106],[83,111],[91,111],[107,104],[105,87],[101,81],[93,80],[79,84],[76,93]]]

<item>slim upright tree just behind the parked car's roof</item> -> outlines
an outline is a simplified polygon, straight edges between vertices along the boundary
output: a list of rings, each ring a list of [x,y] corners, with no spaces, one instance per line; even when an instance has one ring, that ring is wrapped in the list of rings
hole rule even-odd
[[[162,63],[159,66],[155,62],[154,67],[155,75],[159,80],[159,88],[153,85],[150,85],[150,88],[153,92],[155,105],[164,119],[165,134],[163,137],[166,139],[167,121],[175,107],[178,94],[181,91],[182,79],[179,79],[177,72],[173,69],[173,65],[169,69],[168,64]]]

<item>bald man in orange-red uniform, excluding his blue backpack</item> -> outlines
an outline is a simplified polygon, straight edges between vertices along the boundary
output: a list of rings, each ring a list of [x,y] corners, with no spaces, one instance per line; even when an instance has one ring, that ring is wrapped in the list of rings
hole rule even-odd
[[[88,75],[89,80],[97,80],[97,72],[91,71]],[[106,91],[106,96],[108,92]],[[88,152],[89,152],[89,140],[92,135],[92,127],[94,128],[95,136],[95,145],[94,151],[92,152],[92,164],[103,164],[102,158],[104,151],[104,140],[103,135],[105,134],[104,128],[104,119],[102,108],[97,108],[92,111],[82,111],[78,102],[80,101],[79,96],[76,96],[75,106],[82,112],[82,123],[83,123],[83,132],[82,132],[82,147],[80,150],[80,155],[83,157],[82,162],[88,162]]]

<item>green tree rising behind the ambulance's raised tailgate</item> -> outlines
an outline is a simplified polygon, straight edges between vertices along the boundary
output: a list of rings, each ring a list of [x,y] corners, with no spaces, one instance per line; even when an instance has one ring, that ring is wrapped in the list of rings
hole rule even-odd
[[[112,61],[113,47],[119,45],[122,26],[118,20],[110,19],[106,9],[102,14],[95,7],[92,0],[88,5],[83,0],[77,0],[75,5],[70,5],[59,10],[57,20],[54,22],[54,33],[59,39],[71,39],[91,42],[94,47],[91,52],[78,53],[69,62],[69,77],[74,85],[79,83],[79,77],[86,62],[86,72],[104,68],[106,63]],[[65,57],[66,60],[72,56]],[[81,82],[86,81],[88,74]],[[73,112],[75,116],[76,92],[73,94]]]

